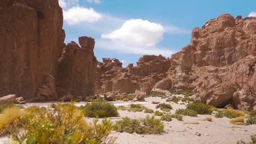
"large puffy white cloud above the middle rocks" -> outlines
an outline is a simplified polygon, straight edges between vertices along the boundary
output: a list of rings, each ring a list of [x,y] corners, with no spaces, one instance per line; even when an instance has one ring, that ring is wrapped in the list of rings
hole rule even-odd
[[[150,47],[162,40],[164,27],[158,23],[141,19],[125,21],[121,28],[107,34],[102,34],[102,39],[121,42],[126,46]]]

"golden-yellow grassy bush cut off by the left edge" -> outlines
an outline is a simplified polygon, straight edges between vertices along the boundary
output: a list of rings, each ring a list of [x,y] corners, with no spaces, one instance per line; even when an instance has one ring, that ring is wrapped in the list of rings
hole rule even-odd
[[[20,118],[24,115],[24,112],[19,107],[8,107],[0,116],[0,135],[10,134],[15,127],[20,127],[22,122]]]

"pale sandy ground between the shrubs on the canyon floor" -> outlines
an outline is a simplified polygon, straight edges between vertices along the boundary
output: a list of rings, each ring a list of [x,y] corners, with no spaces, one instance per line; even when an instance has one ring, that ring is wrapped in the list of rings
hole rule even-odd
[[[152,104],[151,101],[159,101],[164,103],[166,99],[161,99],[158,97],[146,98],[143,102],[133,102],[134,104],[142,104],[150,109],[156,111],[156,104]],[[115,106],[124,105],[127,106],[131,104],[131,101],[113,101]],[[25,106],[44,106],[47,107],[51,103],[30,103]],[[75,105],[84,105],[85,102],[76,103]],[[171,103],[173,110],[184,109],[185,105]],[[160,111],[160,110],[159,110]],[[120,117],[111,118],[112,121],[118,121],[121,117],[131,117],[131,118],[144,118],[147,115],[153,116],[153,114],[144,112],[128,112],[128,111],[118,111]],[[172,119],[171,122],[164,122],[165,131],[160,135],[138,135],[129,133],[117,133],[112,132],[111,136],[117,137],[116,143],[122,144],[134,144],[134,143],[236,143],[238,140],[250,140],[250,135],[256,134],[256,125],[236,125],[240,128],[229,128],[232,124],[229,123],[229,118],[215,118],[212,117],[213,122],[201,121],[201,119],[211,115],[198,115],[197,117],[184,116],[184,122],[199,122],[199,124],[183,124],[182,121],[177,121]],[[160,118],[156,116],[157,118]],[[92,122],[92,118],[86,118],[89,122]],[[200,136],[199,136],[200,135]],[[0,143],[9,143],[7,137],[0,138]]]

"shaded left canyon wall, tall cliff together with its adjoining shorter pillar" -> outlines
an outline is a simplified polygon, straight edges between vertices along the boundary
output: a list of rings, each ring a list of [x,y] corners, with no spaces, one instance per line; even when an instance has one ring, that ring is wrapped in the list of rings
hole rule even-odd
[[[48,101],[67,93],[94,93],[93,39],[79,39],[83,50],[68,54],[73,55],[72,64],[63,65],[60,60],[66,58],[58,0],[0,0],[0,11],[0,97],[16,94],[26,100]],[[72,72],[65,71],[70,70],[66,66],[72,67]],[[69,86],[65,83],[62,87],[62,82]],[[57,93],[60,89],[63,92]]]

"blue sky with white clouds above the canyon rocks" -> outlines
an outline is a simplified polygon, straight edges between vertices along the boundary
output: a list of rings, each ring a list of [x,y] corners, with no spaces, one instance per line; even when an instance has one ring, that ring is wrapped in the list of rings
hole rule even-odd
[[[65,43],[95,38],[95,56],[124,66],[143,55],[171,54],[190,43],[191,30],[223,13],[256,16],[256,1],[59,0]]]

